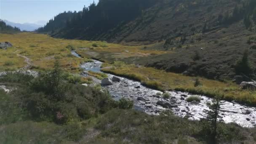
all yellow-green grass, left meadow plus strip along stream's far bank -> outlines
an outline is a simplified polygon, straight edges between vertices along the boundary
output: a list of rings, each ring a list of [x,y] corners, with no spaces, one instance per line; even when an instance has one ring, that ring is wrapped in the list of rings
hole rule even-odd
[[[81,70],[79,64],[90,59],[72,56],[71,49],[76,49],[83,57],[86,57],[88,53],[90,57],[93,57],[93,54],[95,56],[104,54],[121,58],[165,53],[165,51],[143,50],[145,45],[128,46],[104,41],[65,40],[35,33],[0,34],[0,42],[3,41],[12,43],[13,48],[0,49],[0,71],[25,67],[27,63],[24,61],[24,57],[21,56],[27,56],[31,62],[31,69],[45,70],[52,68],[54,61],[59,60],[65,71],[78,73]],[[163,91],[179,90],[207,96],[222,95],[227,100],[256,105],[256,94],[254,92],[241,90],[238,85],[231,82],[223,83],[200,78],[203,85],[195,87],[195,77],[165,72],[150,67],[135,67],[135,65],[127,65],[123,62],[105,63],[103,67],[105,68],[102,70],[105,72],[130,77],[143,82],[149,87]],[[105,77],[93,72],[90,72],[90,75],[98,78]]]

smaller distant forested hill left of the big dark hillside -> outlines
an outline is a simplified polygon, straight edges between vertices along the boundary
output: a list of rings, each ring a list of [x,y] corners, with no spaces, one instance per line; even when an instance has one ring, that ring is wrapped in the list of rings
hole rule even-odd
[[[36,32],[54,32],[55,29],[59,29],[66,26],[67,21],[70,21],[75,15],[76,11],[64,11],[59,13],[57,16],[54,16],[53,19],[50,19],[44,27],[36,29]]]

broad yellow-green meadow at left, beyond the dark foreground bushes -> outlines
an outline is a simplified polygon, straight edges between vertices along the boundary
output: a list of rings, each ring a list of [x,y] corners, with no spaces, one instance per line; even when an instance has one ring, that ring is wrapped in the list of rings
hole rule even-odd
[[[0,42],[4,41],[12,43],[13,48],[0,49],[0,71],[25,67],[27,64],[21,56],[27,56],[31,61],[32,69],[51,68],[54,61],[58,59],[65,70],[78,72],[79,64],[88,59],[72,56],[71,49],[77,49],[77,51],[82,51],[81,48],[90,48],[93,51],[128,49],[133,52],[133,54],[129,53],[129,56],[136,56],[136,53],[141,53],[141,55],[152,53],[152,51],[141,51],[142,46],[126,46],[104,41],[65,40],[35,33],[0,34]],[[95,44],[97,47],[93,47]]]

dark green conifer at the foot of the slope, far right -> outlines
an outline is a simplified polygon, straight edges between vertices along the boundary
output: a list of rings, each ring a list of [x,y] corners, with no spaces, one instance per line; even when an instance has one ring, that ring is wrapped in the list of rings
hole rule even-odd
[[[243,58],[238,60],[236,65],[235,65],[235,72],[240,75],[250,75],[252,73],[252,68],[248,59],[249,56],[249,51],[248,49],[245,49],[243,53]]]

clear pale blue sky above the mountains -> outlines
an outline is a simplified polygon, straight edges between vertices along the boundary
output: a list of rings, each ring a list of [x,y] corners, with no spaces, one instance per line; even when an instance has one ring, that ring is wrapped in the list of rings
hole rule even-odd
[[[81,11],[93,0],[0,0],[0,19],[16,23],[48,21],[63,11]],[[98,3],[98,0],[95,0]]]

